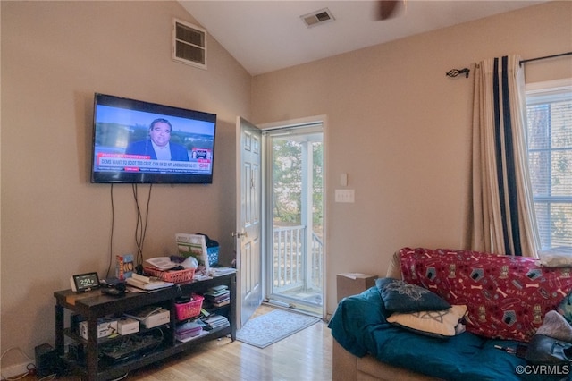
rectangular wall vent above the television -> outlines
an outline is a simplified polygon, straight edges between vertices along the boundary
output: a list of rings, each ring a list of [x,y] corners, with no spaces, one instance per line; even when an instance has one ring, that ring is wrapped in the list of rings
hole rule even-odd
[[[206,69],[206,30],[189,22],[173,19],[172,59]]]

